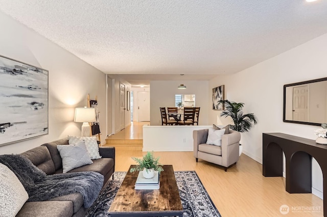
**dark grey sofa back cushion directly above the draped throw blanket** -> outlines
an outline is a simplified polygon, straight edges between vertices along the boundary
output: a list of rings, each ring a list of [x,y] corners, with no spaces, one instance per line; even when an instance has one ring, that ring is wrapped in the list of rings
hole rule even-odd
[[[33,148],[21,153],[20,155],[23,155],[31,160],[32,163],[46,175],[54,174],[56,171],[50,152],[45,146]]]

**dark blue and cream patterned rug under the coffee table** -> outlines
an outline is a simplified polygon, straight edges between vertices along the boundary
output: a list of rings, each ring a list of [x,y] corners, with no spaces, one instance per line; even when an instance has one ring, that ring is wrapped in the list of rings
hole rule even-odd
[[[88,209],[85,216],[110,216],[107,210],[118,192],[125,175],[126,172],[114,173],[114,179],[108,180],[106,187],[102,189],[97,201]],[[195,171],[176,171],[175,177],[184,210],[183,217],[221,216]]]

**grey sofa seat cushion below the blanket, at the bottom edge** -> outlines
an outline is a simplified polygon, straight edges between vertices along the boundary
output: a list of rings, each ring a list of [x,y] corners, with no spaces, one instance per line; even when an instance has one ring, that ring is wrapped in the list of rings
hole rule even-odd
[[[67,217],[72,215],[72,201],[38,201],[25,203],[16,217]]]

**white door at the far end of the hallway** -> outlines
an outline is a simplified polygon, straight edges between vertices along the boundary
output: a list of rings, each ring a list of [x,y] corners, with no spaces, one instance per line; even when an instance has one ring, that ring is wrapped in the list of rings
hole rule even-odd
[[[137,92],[137,121],[150,121],[150,92]]]

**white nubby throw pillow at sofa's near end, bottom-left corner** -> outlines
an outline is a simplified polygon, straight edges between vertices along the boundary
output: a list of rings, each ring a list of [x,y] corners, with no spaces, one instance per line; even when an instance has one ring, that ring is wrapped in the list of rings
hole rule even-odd
[[[0,216],[15,216],[29,199],[17,176],[3,164],[0,164],[0,194]]]

